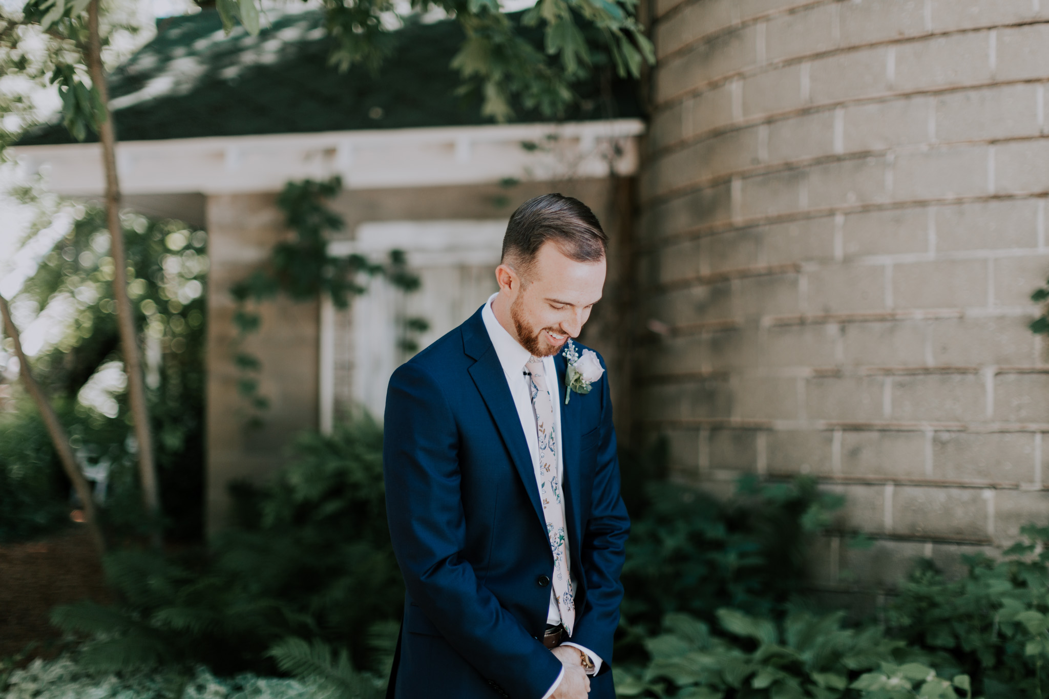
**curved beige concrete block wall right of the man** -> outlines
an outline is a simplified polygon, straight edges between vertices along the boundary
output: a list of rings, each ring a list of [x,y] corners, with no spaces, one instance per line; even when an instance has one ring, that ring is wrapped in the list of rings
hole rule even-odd
[[[821,543],[828,590],[1049,521],[1049,2],[655,13],[639,412],[676,473],[844,494],[877,544]]]

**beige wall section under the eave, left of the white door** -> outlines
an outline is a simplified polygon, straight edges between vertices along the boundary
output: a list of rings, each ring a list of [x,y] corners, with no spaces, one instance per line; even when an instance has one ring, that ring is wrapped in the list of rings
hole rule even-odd
[[[262,323],[243,351],[262,363],[259,394],[270,400],[263,424],[248,424],[248,401],[237,391],[233,363],[237,329],[230,288],[262,264],[288,235],[275,194],[208,197],[207,530],[227,522],[229,484],[262,482],[285,459],[292,438],[317,429],[318,304],[286,296],[261,304]]]

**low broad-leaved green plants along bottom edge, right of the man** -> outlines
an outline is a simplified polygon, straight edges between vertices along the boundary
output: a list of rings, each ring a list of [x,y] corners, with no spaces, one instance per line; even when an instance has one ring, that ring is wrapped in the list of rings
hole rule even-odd
[[[643,670],[616,668],[620,697],[679,699],[970,698],[968,677],[938,677],[881,629],[841,626],[842,613],[795,611],[777,624],[716,612],[722,636],[688,614],[668,614],[645,641]],[[959,694],[959,692],[961,694]]]

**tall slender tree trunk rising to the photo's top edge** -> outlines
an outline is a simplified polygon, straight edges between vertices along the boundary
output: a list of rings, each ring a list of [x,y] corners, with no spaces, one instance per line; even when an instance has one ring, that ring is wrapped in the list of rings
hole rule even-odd
[[[116,179],[116,130],[113,115],[109,111],[109,90],[102,66],[102,39],[99,35],[99,2],[91,0],[87,6],[87,67],[94,89],[102,101],[103,121],[99,125],[99,139],[102,141],[102,161],[106,173],[106,221],[109,226],[113,256],[113,299],[116,302],[116,319],[121,331],[121,346],[124,354],[124,369],[128,375],[128,398],[134,420],[135,440],[138,442],[138,476],[142,481],[143,505],[150,518],[153,545],[160,546],[160,499],[156,482],[156,464],[153,460],[153,438],[146,405],[146,385],[142,373],[142,358],[134,328],[134,314],[128,298],[127,254],[124,248],[124,233],[121,227],[121,192]]]

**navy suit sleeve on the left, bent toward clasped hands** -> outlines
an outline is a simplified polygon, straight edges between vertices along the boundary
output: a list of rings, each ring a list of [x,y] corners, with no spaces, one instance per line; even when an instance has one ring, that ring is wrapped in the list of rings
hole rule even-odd
[[[441,387],[418,363],[390,378],[383,473],[393,552],[414,602],[485,678],[515,699],[540,699],[560,661],[533,638],[463,559],[458,430]]]

